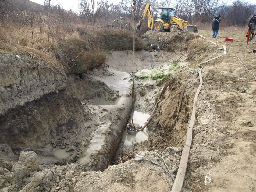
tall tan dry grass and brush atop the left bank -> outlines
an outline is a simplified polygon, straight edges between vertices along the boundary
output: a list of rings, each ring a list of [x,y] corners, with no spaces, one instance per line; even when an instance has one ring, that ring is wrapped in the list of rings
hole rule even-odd
[[[127,43],[129,42],[129,43]],[[80,73],[106,62],[105,50],[126,50],[133,47],[129,30],[94,25],[58,25],[0,28],[0,54],[25,55],[30,62],[48,66],[61,73]],[[140,41],[136,42],[141,49]],[[30,63],[31,65],[31,63]]]

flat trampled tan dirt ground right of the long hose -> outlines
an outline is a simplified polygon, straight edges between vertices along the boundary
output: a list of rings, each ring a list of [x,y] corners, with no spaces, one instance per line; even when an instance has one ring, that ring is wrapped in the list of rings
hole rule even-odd
[[[206,41],[226,45],[228,51],[241,52],[235,54],[256,74],[255,54],[246,53],[244,34],[220,31],[218,39],[214,40],[210,31],[201,31],[200,34],[207,38]],[[234,42],[225,41],[225,37],[233,37]],[[248,49],[252,51],[253,48],[256,45],[250,42]],[[200,126],[194,133],[185,185],[192,191],[254,191],[256,80],[232,52],[202,66],[204,83],[197,111]],[[208,154],[207,149],[212,153]],[[198,160],[202,166],[192,170]],[[210,186],[204,185],[206,173],[212,174]]]

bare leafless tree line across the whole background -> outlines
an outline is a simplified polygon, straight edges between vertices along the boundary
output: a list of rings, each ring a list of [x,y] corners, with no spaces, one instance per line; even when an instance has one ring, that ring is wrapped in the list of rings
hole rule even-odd
[[[173,7],[176,16],[190,23],[210,23],[215,15],[221,15],[225,25],[244,26],[256,11],[256,5],[243,0],[234,0],[228,5],[222,0],[137,0],[135,19],[141,17],[147,3],[151,4],[151,11],[156,18],[158,7]],[[35,3],[34,3],[35,4]],[[111,20],[124,16],[125,20],[133,19],[132,0],[120,0],[119,3],[110,3],[109,0],[79,0],[78,12],[65,10],[60,4],[53,6],[52,0],[44,0],[44,5],[35,6],[28,0],[0,0],[0,21],[22,21],[21,11],[34,13],[51,13],[53,20],[62,22],[97,22]],[[34,6],[32,6],[34,5]],[[23,21],[24,22],[24,21]]]

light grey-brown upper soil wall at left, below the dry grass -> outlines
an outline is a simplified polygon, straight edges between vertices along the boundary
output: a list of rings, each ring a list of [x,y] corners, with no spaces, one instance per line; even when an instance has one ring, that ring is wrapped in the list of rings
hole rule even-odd
[[[0,55],[0,115],[65,88],[65,75],[17,55]]]

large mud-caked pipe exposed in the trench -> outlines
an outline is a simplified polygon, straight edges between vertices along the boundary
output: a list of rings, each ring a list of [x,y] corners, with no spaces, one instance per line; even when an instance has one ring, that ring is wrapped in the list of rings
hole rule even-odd
[[[84,156],[78,160],[78,163],[89,167],[92,171],[104,171],[111,164],[132,110],[132,97],[124,94],[117,105],[105,106],[109,111],[116,111],[120,107],[123,110],[122,113],[118,113],[118,118],[111,120],[115,123],[109,123],[109,127],[106,128],[106,130],[113,130],[112,133],[105,134],[102,127],[97,129]]]

